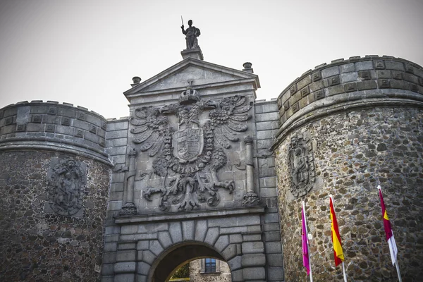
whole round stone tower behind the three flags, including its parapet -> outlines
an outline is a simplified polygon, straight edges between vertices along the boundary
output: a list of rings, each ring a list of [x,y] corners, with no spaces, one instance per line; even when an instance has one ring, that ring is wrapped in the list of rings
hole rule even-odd
[[[302,281],[305,201],[315,281],[341,281],[331,243],[333,195],[351,281],[397,281],[381,185],[403,281],[423,275],[423,68],[391,56],[317,66],[278,97],[278,204],[286,281]],[[305,280],[304,280],[305,281]]]

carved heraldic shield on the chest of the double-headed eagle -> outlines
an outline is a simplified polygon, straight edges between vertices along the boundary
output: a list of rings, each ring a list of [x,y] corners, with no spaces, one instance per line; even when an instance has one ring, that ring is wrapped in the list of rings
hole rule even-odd
[[[173,154],[180,163],[195,161],[204,147],[202,128],[185,128],[173,133]]]

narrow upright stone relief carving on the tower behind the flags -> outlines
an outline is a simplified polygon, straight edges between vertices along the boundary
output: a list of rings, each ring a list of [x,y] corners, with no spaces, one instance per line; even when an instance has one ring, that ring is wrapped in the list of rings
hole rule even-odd
[[[311,140],[305,134],[293,137],[288,152],[290,191],[294,197],[302,197],[312,190],[312,183],[315,180]]]

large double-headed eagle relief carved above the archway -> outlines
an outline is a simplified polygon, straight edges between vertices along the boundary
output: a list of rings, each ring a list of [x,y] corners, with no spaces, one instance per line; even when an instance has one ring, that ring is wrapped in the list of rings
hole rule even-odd
[[[216,207],[219,188],[235,189],[233,180],[220,181],[216,173],[226,164],[230,142],[238,141],[237,133],[247,130],[244,123],[250,108],[244,96],[214,102],[200,99],[188,87],[176,104],[136,109],[130,118],[135,125],[130,130],[133,142],[141,152],[155,157],[153,171],[161,177],[159,187],[144,191],[145,199],[152,201],[152,195],[159,193],[159,208],[164,212],[172,204],[180,211],[200,209],[202,202]],[[177,124],[170,122],[171,116],[176,116]]]

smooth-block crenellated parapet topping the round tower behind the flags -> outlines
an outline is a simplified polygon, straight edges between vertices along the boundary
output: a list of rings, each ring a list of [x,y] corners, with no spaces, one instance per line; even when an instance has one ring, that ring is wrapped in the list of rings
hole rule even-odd
[[[422,66],[392,56],[354,56],[323,63],[305,72],[279,95],[276,144],[311,119],[386,104],[423,106]]]

